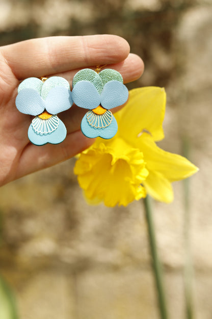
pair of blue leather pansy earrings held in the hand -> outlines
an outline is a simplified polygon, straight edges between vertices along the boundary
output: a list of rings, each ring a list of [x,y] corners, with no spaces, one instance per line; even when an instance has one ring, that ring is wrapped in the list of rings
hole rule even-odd
[[[29,140],[35,145],[59,144],[66,138],[66,127],[57,114],[73,103],[88,109],[81,130],[88,138],[111,139],[118,130],[111,108],[127,101],[128,90],[122,76],[112,69],[83,69],[73,77],[72,92],[62,77],[28,78],[18,86],[17,109],[36,116],[29,127]]]

